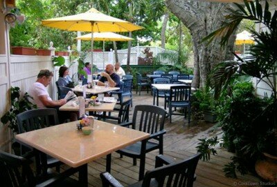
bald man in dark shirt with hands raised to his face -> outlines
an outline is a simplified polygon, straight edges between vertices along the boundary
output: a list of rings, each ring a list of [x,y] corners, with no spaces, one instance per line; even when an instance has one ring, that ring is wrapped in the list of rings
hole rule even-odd
[[[120,88],[120,77],[114,72],[114,66],[108,64],[105,72],[101,72],[101,77],[97,82],[98,86],[105,86],[105,81],[108,81],[109,86]]]

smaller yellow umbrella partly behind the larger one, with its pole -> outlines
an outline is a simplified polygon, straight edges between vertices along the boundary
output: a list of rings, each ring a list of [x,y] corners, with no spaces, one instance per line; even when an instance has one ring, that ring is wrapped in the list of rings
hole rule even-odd
[[[75,39],[81,40],[91,40],[91,33],[87,35],[82,35],[80,37],[76,37]],[[104,62],[104,51],[105,51],[105,41],[129,41],[132,40],[130,37],[125,37],[123,35],[118,35],[114,32],[95,32],[93,33],[93,41],[103,41],[103,70],[105,70],[105,62]]]

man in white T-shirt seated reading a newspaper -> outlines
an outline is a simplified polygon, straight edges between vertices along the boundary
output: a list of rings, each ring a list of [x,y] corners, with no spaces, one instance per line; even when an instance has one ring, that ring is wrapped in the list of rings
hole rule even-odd
[[[71,121],[77,120],[77,114],[75,112],[62,112],[58,108],[66,104],[66,99],[52,100],[49,96],[46,87],[51,83],[53,72],[49,70],[40,70],[37,75],[37,81],[30,86],[28,93],[33,97],[33,104],[37,105],[37,108],[56,108],[57,115],[60,122],[70,118]]]

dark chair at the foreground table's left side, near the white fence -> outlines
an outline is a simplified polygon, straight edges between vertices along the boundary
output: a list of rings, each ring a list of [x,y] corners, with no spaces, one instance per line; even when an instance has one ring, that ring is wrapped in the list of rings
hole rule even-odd
[[[57,110],[54,108],[39,108],[28,110],[17,115],[17,125],[19,134],[24,132],[29,132],[31,130],[37,130],[40,128],[46,128],[48,126],[54,126],[59,124],[59,120],[57,118]],[[21,145],[22,146],[22,145]],[[31,147],[21,147],[21,150],[24,149],[33,150]],[[21,151],[22,152],[22,151]],[[37,174],[41,173],[41,170],[44,175],[47,174],[47,168],[56,167],[56,170],[60,170],[61,161],[57,159],[53,159],[52,157],[48,157],[46,154],[36,154],[36,169]]]

